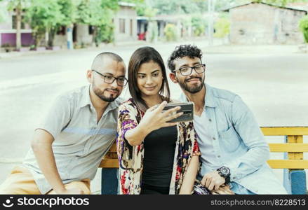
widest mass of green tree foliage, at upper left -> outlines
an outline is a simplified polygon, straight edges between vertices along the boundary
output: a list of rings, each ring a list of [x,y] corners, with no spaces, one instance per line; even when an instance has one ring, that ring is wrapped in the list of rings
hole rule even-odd
[[[46,31],[48,46],[53,46],[53,39],[61,26],[73,24],[91,25],[94,29],[93,41],[113,41],[112,17],[119,8],[118,0],[15,0],[30,1],[27,6],[29,21],[36,45]]]

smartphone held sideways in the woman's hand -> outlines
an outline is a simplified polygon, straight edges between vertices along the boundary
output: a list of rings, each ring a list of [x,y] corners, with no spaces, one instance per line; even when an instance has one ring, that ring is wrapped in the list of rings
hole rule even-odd
[[[177,123],[182,121],[190,121],[194,119],[194,103],[192,102],[185,102],[185,103],[178,103],[178,104],[167,104],[163,111],[168,109],[173,109],[176,106],[180,106],[181,109],[177,111],[177,113],[182,112],[182,116],[175,118],[173,120],[168,121],[168,123]]]

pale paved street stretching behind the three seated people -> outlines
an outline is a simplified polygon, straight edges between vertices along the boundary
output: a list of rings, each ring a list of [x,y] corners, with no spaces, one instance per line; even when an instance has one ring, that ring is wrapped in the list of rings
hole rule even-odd
[[[163,59],[177,43],[153,45]],[[239,94],[253,110],[260,126],[308,126],[308,55],[297,46],[207,47],[206,82]],[[104,49],[72,50],[0,59],[0,183],[29,149],[36,123],[55,96],[79,85],[86,85],[86,69],[99,52],[110,50],[128,64],[140,45],[109,46]],[[170,83],[171,96],[180,94]],[[128,97],[124,90],[123,97]],[[272,138],[269,142],[279,142]],[[307,142],[307,137],[304,139]],[[276,154],[281,158],[282,154]],[[308,158],[305,155],[304,158]],[[282,179],[281,170],[275,170]],[[100,188],[100,174],[93,182]]]

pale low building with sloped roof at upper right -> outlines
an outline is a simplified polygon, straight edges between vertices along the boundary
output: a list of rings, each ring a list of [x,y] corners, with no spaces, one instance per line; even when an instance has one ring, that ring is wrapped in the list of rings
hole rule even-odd
[[[307,15],[306,10],[268,3],[246,3],[224,11],[230,14],[231,43],[304,43],[298,22]]]

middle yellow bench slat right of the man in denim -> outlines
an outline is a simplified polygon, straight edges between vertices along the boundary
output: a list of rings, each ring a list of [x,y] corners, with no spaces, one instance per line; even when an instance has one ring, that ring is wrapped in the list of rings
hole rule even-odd
[[[269,149],[274,153],[303,153],[308,152],[308,144],[269,144]]]

